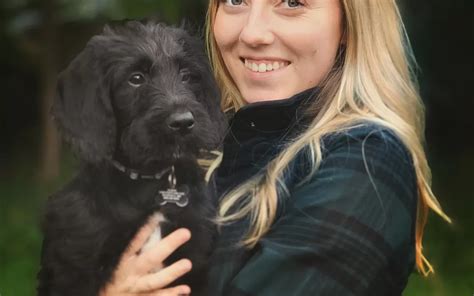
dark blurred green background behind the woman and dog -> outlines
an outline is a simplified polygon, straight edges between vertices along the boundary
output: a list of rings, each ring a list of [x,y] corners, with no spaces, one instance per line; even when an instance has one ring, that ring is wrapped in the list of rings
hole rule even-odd
[[[430,214],[425,253],[436,269],[404,295],[474,294],[474,5],[400,0],[420,65],[433,190],[454,223]],[[57,73],[109,20],[159,16],[202,28],[207,0],[0,2],[0,295],[35,294],[48,195],[74,173],[48,115]]]

